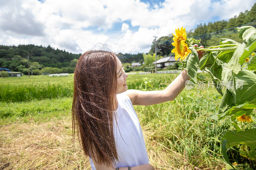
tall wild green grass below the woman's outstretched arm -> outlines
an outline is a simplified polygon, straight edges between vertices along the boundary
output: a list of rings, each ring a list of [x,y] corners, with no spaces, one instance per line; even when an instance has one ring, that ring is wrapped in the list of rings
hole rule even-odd
[[[192,99],[194,98],[194,99]],[[220,96],[214,90],[184,90],[173,101],[152,106],[135,106],[141,125],[150,131],[150,139],[174,154],[182,155],[172,162],[174,167],[216,167],[222,164],[220,153],[221,132],[230,127],[225,120],[221,129],[213,122],[202,122],[188,129],[201,115],[217,111]]]

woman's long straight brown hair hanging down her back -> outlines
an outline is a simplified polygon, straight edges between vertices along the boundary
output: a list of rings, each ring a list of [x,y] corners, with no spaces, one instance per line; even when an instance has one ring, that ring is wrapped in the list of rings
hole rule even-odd
[[[84,154],[107,166],[118,160],[113,134],[116,68],[115,53],[91,50],[79,57],[74,72],[73,142],[76,131]]]

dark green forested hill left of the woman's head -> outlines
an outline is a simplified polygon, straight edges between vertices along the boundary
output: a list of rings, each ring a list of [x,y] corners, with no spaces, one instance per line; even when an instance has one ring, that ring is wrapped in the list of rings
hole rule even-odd
[[[62,73],[74,72],[77,59],[81,54],[72,54],[65,50],[54,49],[50,46],[35,45],[2,46],[0,45],[0,67],[28,74],[29,65],[33,67],[33,74],[42,72]],[[42,70],[43,69],[43,70]]]

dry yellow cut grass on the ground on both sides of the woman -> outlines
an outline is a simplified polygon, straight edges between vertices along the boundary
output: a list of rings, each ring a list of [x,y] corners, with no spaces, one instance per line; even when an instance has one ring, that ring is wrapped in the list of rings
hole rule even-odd
[[[188,164],[174,167],[177,161],[189,162],[180,153],[152,140],[153,129],[143,128],[148,158],[155,169],[200,169]],[[176,162],[171,164],[171,162]],[[46,123],[10,123],[0,127],[0,169],[91,169],[79,143],[72,142],[70,119]],[[208,169],[208,168],[207,168]],[[220,169],[216,167],[213,169]]]

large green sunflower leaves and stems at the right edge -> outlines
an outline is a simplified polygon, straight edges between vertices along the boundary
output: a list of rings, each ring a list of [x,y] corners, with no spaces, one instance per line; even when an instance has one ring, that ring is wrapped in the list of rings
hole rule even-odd
[[[256,29],[252,26],[242,26],[237,28],[237,31],[238,37],[243,40],[242,44],[231,39],[220,39],[220,45],[197,48],[192,45],[197,40],[188,37],[186,40],[191,53],[182,61],[182,70],[185,68],[188,71],[190,80],[195,84],[197,68],[207,71],[216,90],[222,96],[218,112],[211,116],[213,120],[220,120],[226,116],[231,116],[234,120],[243,115],[249,118],[256,109],[256,57],[251,56],[256,50]],[[197,51],[205,51],[200,62]],[[250,61],[245,69],[242,66],[247,58]],[[224,92],[222,86],[226,87]],[[250,149],[246,152],[247,158],[254,161],[255,137],[256,128],[241,130],[236,134],[226,132],[222,137],[222,152],[227,162],[230,164],[226,146],[237,144],[248,146]]]

